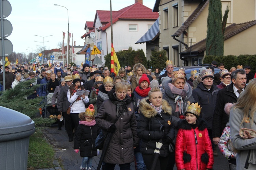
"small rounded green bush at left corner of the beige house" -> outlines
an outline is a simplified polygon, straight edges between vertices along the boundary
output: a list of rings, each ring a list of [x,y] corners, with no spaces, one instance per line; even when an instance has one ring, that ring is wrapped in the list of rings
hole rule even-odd
[[[161,70],[166,67],[165,62],[167,61],[166,51],[152,51],[152,56],[150,56],[150,66],[153,70],[155,68],[160,68]]]

